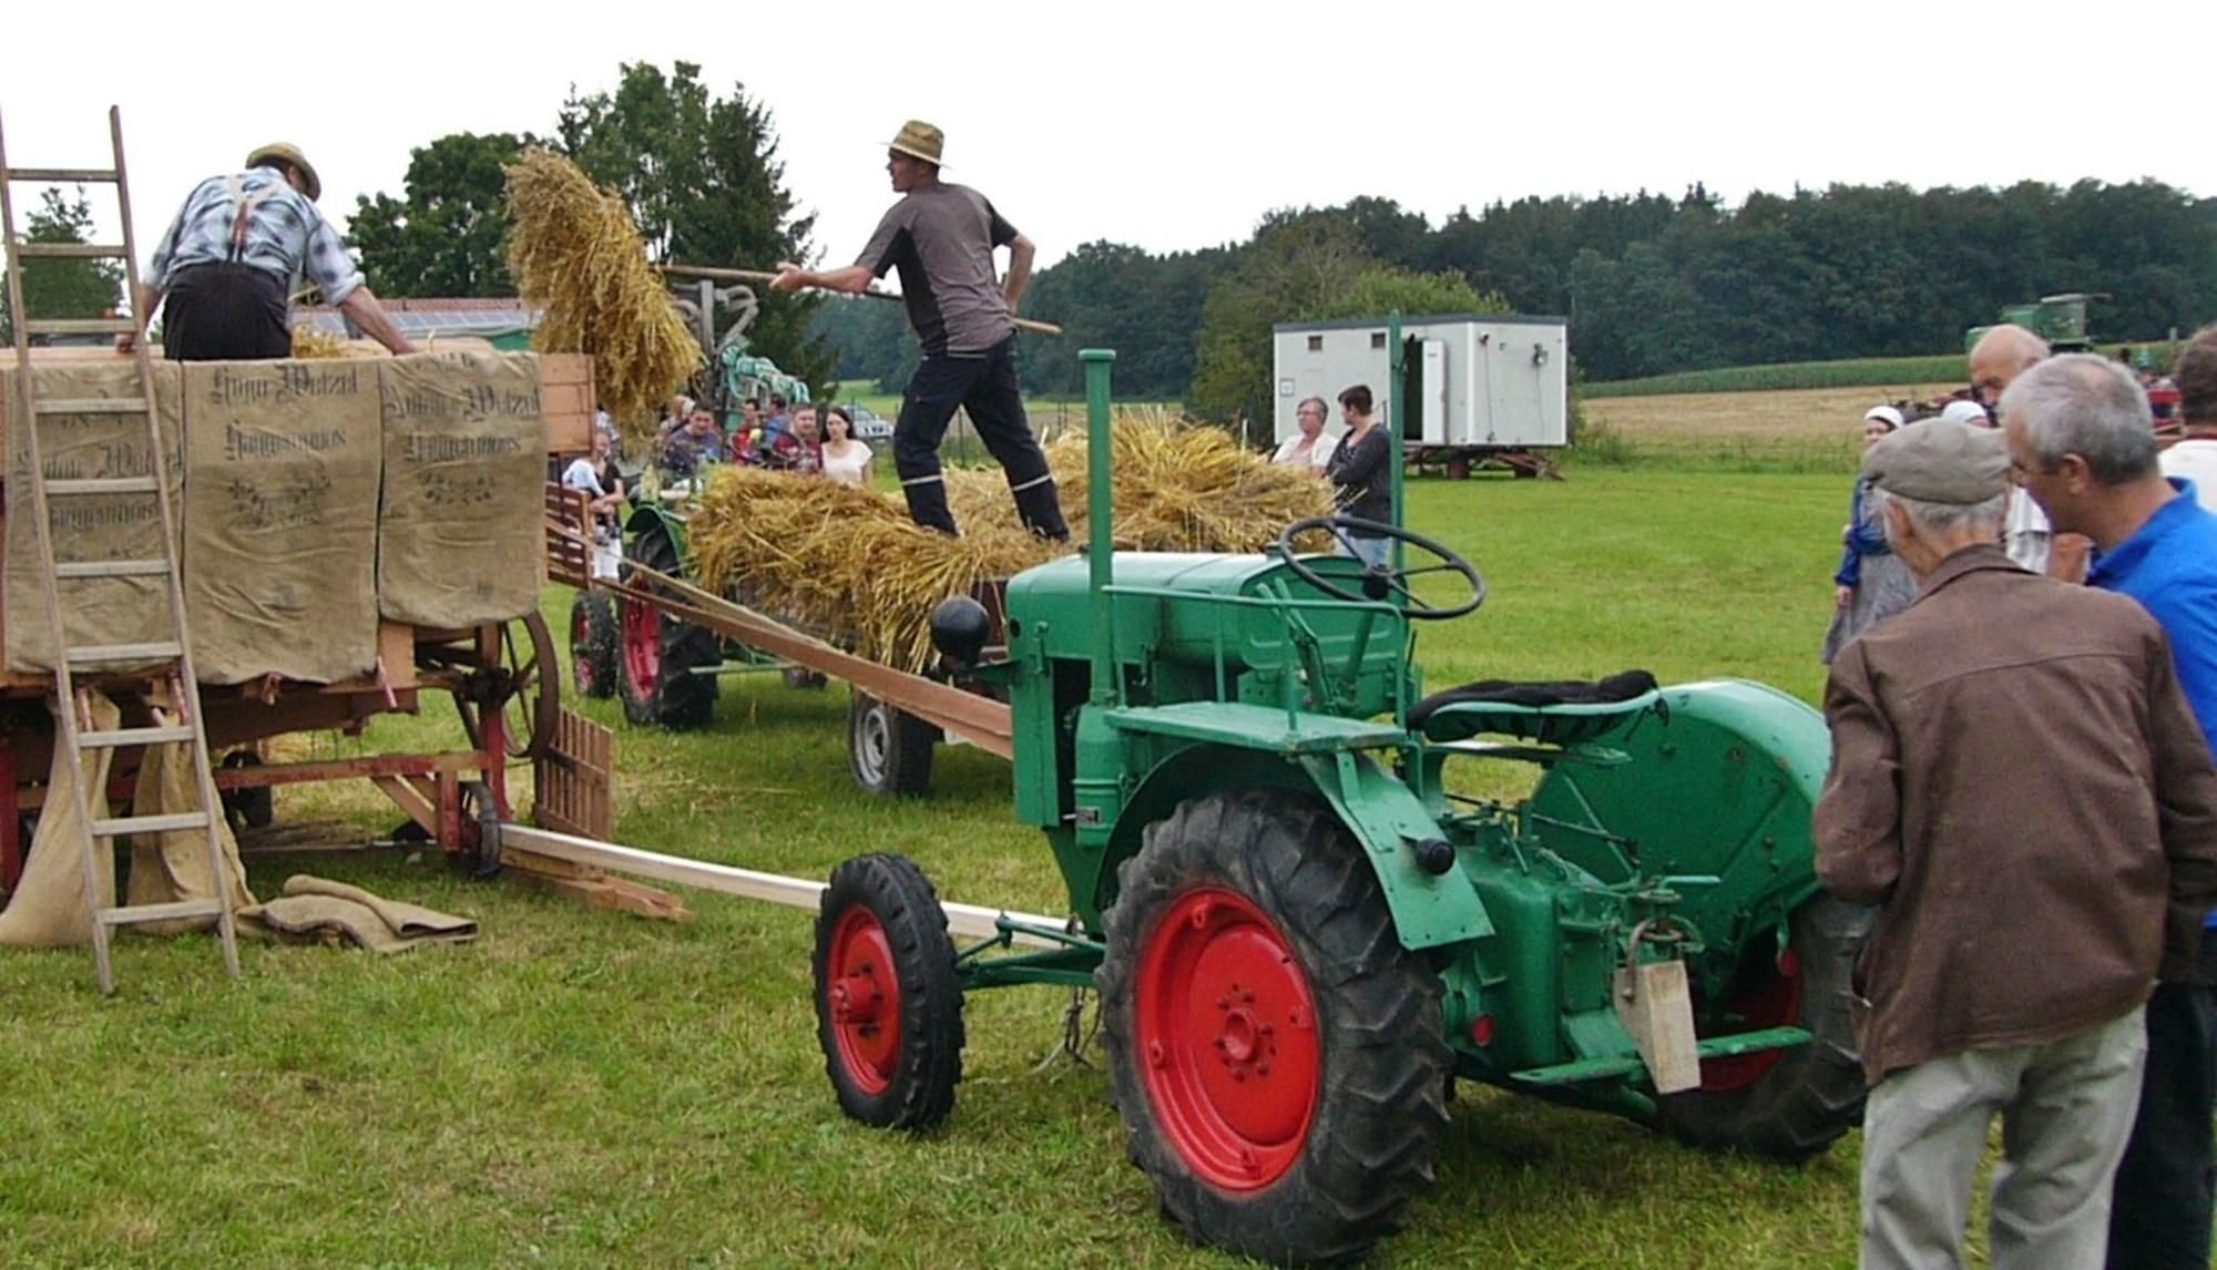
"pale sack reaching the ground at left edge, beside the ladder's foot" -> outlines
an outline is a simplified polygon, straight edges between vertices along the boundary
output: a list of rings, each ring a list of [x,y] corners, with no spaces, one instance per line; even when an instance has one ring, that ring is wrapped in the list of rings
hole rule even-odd
[[[122,718],[115,703],[93,694],[93,727],[111,729]],[[78,762],[53,747],[53,771],[47,782],[47,807],[38,813],[31,836],[31,858],[24,862],[16,893],[0,913],[0,944],[16,949],[64,949],[93,942],[93,909],[84,898],[84,820],[78,818],[73,785],[82,776],[91,793],[93,820],[109,813],[109,760],[113,749],[86,749]],[[100,842],[93,851],[100,898],[115,902],[115,851]]]

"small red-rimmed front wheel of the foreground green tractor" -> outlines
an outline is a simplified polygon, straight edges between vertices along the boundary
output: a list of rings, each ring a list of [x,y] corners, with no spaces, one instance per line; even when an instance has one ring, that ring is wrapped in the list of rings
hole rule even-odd
[[[962,1079],[962,984],[947,911],[907,856],[845,860],[816,915],[816,1039],[838,1106],[929,1128]]]

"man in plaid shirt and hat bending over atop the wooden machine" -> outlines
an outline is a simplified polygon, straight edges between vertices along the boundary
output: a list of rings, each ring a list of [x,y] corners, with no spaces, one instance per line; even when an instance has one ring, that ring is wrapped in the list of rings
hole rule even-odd
[[[306,277],[364,335],[392,352],[415,352],[361,284],[339,233],[315,211],[321,193],[315,164],[284,142],[246,155],[242,173],[193,186],[133,297],[137,335],[160,304],[162,348],[173,361],[290,357],[293,284]],[[120,346],[129,350],[133,339],[124,335]]]

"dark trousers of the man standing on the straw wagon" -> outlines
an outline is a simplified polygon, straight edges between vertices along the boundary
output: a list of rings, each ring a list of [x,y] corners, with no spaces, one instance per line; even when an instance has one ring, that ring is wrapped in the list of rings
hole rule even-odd
[[[975,357],[924,355],[893,423],[893,472],[909,499],[909,519],[942,534],[956,532],[940,477],[940,441],[956,408],[969,410],[978,439],[1009,477],[1015,514],[1042,539],[1069,539],[1055,477],[1024,419],[1024,397],[1015,386],[1015,337]]]

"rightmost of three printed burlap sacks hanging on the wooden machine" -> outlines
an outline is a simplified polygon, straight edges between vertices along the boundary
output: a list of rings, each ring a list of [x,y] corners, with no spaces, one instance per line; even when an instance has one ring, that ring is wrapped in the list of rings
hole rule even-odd
[[[377,610],[470,627],[539,607],[545,421],[530,352],[419,352],[377,363],[386,488]]]

